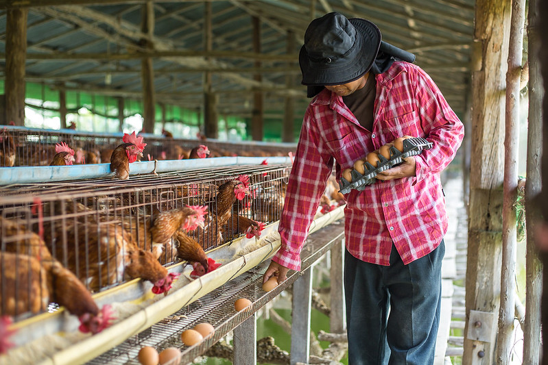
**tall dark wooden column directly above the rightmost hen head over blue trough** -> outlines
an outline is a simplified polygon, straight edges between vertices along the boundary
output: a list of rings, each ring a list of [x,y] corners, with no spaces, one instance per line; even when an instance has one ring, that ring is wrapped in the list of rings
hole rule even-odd
[[[213,10],[211,2],[204,3],[204,49],[213,49]],[[217,95],[212,90],[212,74],[206,72],[204,75],[204,134],[207,138],[219,138],[219,116],[217,114]]]

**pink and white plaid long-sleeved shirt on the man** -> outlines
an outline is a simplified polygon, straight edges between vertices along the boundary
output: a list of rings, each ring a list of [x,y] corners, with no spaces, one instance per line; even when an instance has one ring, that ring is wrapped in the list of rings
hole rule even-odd
[[[345,195],[346,249],[359,260],[389,265],[394,243],[405,264],[427,255],[447,229],[442,171],[455,157],[464,126],[422,69],[406,62],[376,75],[373,130],[361,127],[342,97],[323,90],[310,103],[300,131],[278,231],[281,248],[272,260],[300,269],[305,242],[333,161],[337,179],[345,168],[404,135],[433,147],[414,156],[416,176],[378,180]]]

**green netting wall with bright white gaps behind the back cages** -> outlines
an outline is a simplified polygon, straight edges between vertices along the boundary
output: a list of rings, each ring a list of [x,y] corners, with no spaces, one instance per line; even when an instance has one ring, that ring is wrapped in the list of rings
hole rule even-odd
[[[0,93],[4,93],[4,80],[0,80]],[[59,92],[50,88],[47,84],[27,82],[25,90],[26,102],[29,104],[29,112],[25,116],[27,127],[60,128]],[[83,131],[119,131],[118,99],[104,97],[89,92],[67,90],[67,125],[75,122],[77,128]],[[124,99],[123,115],[126,117],[123,130],[140,130],[139,117],[143,105],[140,100]],[[199,110],[191,110],[180,105],[165,105],[165,129],[171,131],[174,136],[182,138],[195,136],[200,131],[203,123],[203,113]],[[156,121],[162,120],[160,105],[156,105]],[[295,140],[298,139],[302,118],[299,116],[294,122]],[[228,130],[227,130],[228,127]],[[156,123],[154,133],[161,133],[161,123]],[[250,118],[238,116],[219,116],[219,137],[228,140],[251,140]],[[281,141],[282,121],[278,119],[265,119],[264,140],[270,142]]]

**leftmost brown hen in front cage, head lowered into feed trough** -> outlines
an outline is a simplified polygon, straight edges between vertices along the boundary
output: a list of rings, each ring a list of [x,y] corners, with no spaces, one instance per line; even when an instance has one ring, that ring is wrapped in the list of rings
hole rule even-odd
[[[40,236],[19,221],[0,218],[0,244],[0,314],[36,314],[52,302],[78,316],[84,333],[108,327],[110,305],[99,310],[82,282],[51,257]]]

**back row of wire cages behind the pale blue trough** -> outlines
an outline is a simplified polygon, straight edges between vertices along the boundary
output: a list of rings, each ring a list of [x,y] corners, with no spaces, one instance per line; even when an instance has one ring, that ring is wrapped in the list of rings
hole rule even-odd
[[[0,125],[0,166],[48,166],[56,155],[56,144],[64,142],[76,153],[76,163],[110,162],[112,151],[122,143],[122,134],[78,133],[69,129],[29,129]],[[222,142],[218,140],[187,140],[141,135],[147,143],[145,160],[178,160],[188,158],[190,151],[204,145],[208,157],[222,156],[287,156],[296,144],[266,142]]]

